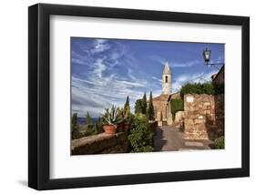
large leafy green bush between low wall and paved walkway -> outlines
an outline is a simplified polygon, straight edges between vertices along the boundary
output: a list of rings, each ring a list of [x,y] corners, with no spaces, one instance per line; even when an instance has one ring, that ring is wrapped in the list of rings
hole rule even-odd
[[[148,117],[135,117],[135,123],[128,135],[131,146],[131,152],[149,152],[153,151],[153,133],[148,124]]]

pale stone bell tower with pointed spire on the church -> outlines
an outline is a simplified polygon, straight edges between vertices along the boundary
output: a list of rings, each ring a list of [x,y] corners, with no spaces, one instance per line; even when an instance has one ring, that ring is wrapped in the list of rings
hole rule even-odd
[[[169,70],[168,61],[164,64],[164,70],[162,74],[162,94],[170,95],[171,92],[171,74]]]

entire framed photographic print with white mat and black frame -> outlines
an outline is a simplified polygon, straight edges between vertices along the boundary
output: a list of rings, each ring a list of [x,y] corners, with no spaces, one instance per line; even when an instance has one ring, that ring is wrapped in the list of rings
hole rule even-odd
[[[28,8],[28,185],[250,175],[250,19]]]

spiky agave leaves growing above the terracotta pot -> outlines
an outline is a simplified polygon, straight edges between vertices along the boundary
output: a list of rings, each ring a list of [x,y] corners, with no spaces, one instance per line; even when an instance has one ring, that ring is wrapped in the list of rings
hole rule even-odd
[[[104,122],[108,125],[117,125],[118,123],[123,121],[123,118],[119,114],[119,108],[115,106],[112,106],[110,110],[106,108],[106,113],[102,117],[104,119]]]

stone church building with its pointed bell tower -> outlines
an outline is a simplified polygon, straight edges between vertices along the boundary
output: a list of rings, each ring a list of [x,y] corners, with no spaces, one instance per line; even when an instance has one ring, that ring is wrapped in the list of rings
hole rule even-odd
[[[171,95],[171,69],[166,61],[162,73],[162,94],[153,98],[155,119],[159,121],[159,126],[172,124],[170,99],[177,97],[179,97],[179,93]]]

